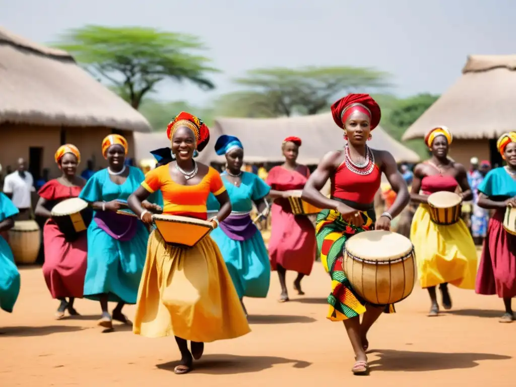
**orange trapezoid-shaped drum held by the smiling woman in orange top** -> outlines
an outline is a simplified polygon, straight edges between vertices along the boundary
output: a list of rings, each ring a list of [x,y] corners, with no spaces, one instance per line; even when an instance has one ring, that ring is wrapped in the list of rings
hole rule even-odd
[[[178,247],[192,247],[213,230],[213,223],[177,215],[152,215],[156,229],[166,243]]]

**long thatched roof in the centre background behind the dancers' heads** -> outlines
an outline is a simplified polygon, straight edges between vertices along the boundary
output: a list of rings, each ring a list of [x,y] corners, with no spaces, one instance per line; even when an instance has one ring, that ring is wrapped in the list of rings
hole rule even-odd
[[[299,163],[315,165],[327,152],[339,149],[344,144],[343,132],[333,122],[331,114],[286,118],[217,118],[210,128],[210,140],[198,160],[201,162],[225,163],[213,147],[221,134],[236,136],[244,144],[245,162],[279,163],[284,158],[281,143],[287,136],[298,136],[303,141]],[[165,132],[135,134],[137,159],[149,158],[150,151],[169,144]],[[417,163],[420,157],[389,136],[380,126],[373,131],[369,146],[387,150],[396,162]],[[152,156],[151,156],[152,157]]]

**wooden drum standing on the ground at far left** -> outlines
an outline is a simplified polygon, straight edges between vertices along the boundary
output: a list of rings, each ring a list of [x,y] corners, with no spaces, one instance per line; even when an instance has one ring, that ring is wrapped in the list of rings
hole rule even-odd
[[[18,264],[34,264],[38,259],[41,234],[34,220],[19,220],[9,230],[9,246]]]

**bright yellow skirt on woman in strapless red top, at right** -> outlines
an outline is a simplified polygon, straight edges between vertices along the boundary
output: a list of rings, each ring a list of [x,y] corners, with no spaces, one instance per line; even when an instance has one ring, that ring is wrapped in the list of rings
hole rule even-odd
[[[421,287],[448,282],[463,289],[475,288],[477,250],[462,219],[451,225],[433,223],[428,205],[420,204],[412,219],[410,240]]]

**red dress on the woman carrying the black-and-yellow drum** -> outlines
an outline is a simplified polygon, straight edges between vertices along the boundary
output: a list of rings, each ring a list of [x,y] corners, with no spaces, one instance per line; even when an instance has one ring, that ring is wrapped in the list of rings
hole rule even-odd
[[[38,195],[49,204],[49,209],[64,199],[79,196],[82,187],[62,185],[56,179],[47,182]],[[83,297],[88,244],[86,232],[69,242],[49,219],[43,227],[45,263],[43,276],[53,298]]]

